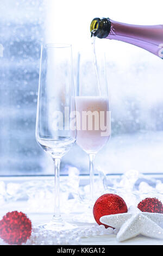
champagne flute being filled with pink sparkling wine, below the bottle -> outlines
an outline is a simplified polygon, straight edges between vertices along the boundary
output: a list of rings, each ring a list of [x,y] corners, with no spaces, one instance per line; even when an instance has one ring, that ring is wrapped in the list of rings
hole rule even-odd
[[[87,199],[84,200],[89,204],[90,209],[90,216],[87,215],[87,222],[93,220],[92,206],[95,203],[95,194],[97,192],[94,184],[94,160],[96,154],[109,141],[111,135],[104,53],[100,55],[100,58],[97,58],[94,42],[92,42],[92,46],[93,49],[89,53],[79,53],[79,72],[75,97],[77,113],[76,142],[87,153],[90,162],[90,193],[86,195]]]

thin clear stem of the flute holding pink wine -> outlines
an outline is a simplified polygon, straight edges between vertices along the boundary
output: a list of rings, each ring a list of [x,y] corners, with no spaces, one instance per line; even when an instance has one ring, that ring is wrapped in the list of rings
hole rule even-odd
[[[90,158],[90,196],[92,203],[94,202],[94,176],[95,176],[95,170],[94,170],[94,160],[95,160],[95,154],[89,154]]]

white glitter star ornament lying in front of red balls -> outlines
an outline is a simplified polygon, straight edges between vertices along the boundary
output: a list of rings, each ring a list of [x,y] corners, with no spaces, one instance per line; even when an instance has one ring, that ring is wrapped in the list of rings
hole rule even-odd
[[[101,223],[118,229],[119,242],[144,235],[163,239],[163,214],[142,212],[135,206],[130,206],[127,213],[106,215],[100,218]]]

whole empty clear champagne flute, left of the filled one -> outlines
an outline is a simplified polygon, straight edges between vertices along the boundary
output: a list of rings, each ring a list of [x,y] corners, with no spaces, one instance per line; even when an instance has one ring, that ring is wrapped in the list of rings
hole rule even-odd
[[[74,111],[72,48],[68,44],[46,44],[41,48],[36,141],[54,162],[54,215],[42,227],[49,230],[75,228],[60,215],[60,161],[76,142],[71,129]],[[74,115],[75,118],[75,115]]]

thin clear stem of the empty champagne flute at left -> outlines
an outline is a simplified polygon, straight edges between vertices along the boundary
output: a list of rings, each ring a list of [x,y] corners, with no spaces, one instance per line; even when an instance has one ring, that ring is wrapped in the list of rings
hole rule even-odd
[[[60,221],[60,191],[59,191],[59,176],[60,176],[60,159],[53,159],[54,161],[54,215],[53,220]]]

